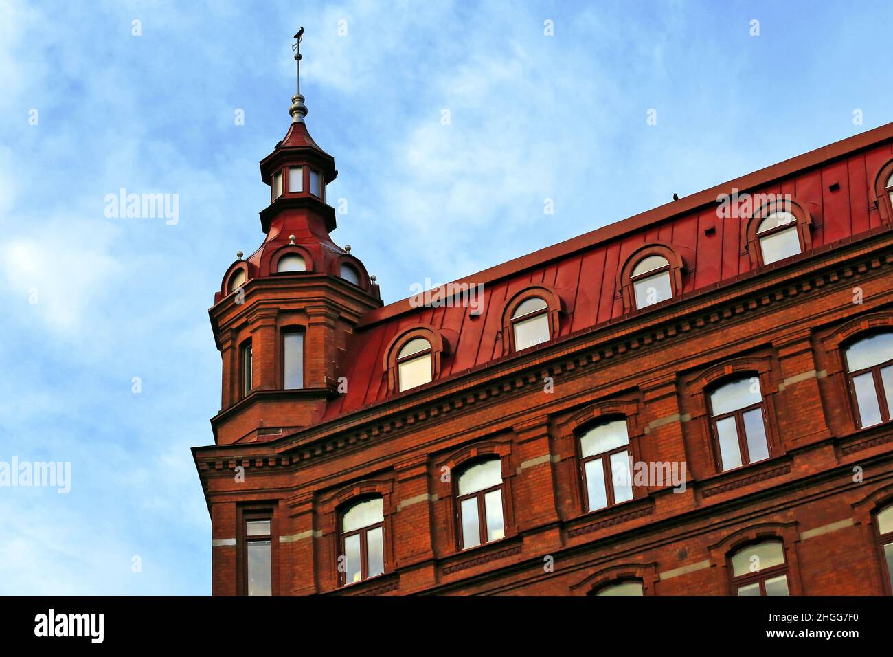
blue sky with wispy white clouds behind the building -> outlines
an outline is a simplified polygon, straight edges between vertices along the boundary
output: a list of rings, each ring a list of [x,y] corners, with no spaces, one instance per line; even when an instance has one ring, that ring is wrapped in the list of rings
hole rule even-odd
[[[207,307],[263,238],[301,25],[333,239],[386,301],[893,121],[880,2],[5,0],[0,461],[71,492],[0,487],[0,593],[210,592]],[[179,222],[106,217],[121,188]]]

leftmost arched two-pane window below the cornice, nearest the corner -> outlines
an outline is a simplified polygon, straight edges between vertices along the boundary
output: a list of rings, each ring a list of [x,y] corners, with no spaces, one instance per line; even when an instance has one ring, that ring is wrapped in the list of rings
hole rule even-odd
[[[353,584],[385,571],[384,501],[361,501],[341,516],[342,584]]]

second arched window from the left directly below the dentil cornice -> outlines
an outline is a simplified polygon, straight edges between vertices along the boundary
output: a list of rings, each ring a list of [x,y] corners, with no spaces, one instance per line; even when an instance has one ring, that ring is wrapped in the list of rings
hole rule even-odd
[[[459,476],[456,507],[463,550],[505,537],[502,487],[499,459],[477,463]]]

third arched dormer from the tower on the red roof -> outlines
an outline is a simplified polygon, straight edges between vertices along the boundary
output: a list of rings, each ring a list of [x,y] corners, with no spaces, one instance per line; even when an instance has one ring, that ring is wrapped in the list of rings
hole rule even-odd
[[[634,250],[620,268],[617,291],[623,309],[641,310],[682,291],[682,257],[669,244],[653,242]]]

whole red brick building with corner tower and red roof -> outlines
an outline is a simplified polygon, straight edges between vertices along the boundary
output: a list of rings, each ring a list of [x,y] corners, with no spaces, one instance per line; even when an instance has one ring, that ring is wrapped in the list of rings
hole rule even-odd
[[[383,306],[303,100],[210,309],[213,594],[890,593],[893,124]]]

